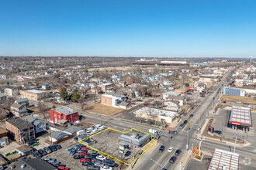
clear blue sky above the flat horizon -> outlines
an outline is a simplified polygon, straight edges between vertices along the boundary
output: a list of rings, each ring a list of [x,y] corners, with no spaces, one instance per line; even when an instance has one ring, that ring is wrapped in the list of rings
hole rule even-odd
[[[1,0],[0,56],[256,56],[256,0]]]

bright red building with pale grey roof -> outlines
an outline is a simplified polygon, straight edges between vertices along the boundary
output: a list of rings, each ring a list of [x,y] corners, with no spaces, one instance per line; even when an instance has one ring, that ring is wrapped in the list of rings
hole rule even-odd
[[[78,111],[71,107],[62,106],[50,110],[50,122],[54,124],[73,123],[74,121],[78,121]]]

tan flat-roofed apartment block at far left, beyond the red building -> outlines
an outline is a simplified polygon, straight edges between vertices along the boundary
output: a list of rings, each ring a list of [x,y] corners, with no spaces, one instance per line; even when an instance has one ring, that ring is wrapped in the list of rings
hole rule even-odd
[[[41,100],[48,97],[48,92],[41,90],[19,90],[22,98],[28,98],[29,100]]]

